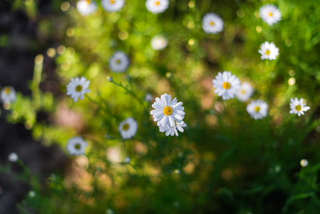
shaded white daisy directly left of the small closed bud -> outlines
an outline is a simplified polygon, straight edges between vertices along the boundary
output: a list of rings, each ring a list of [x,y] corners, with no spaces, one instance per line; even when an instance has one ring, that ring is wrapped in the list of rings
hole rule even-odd
[[[90,81],[87,81],[86,77],[71,78],[71,81],[67,86],[67,95],[71,96],[75,102],[78,101],[79,97],[83,100],[84,94],[90,92],[90,89],[88,89],[89,84]]]

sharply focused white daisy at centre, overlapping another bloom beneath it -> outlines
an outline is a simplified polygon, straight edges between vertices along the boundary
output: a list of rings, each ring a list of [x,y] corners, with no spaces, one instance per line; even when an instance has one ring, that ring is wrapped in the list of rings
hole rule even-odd
[[[182,107],[182,102],[177,103],[177,98],[171,101],[171,95],[167,93],[162,94],[161,98],[155,98],[153,108],[155,110],[150,111],[153,115],[153,121],[158,121],[158,126],[167,126],[172,128],[175,123],[181,123],[185,118],[185,108]]]

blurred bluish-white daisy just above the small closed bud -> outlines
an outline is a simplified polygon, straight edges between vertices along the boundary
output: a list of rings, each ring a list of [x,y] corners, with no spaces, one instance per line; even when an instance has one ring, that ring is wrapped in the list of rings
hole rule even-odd
[[[111,71],[114,72],[124,72],[128,69],[130,64],[130,59],[127,54],[123,51],[116,51],[113,56],[111,56],[109,61],[109,67]]]

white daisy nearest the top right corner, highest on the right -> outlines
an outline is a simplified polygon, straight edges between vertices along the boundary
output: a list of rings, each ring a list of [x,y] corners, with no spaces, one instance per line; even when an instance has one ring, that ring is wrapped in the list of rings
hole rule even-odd
[[[259,9],[259,16],[269,25],[278,23],[281,20],[281,11],[272,4],[267,4]]]

